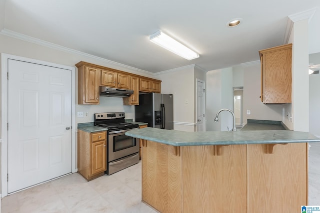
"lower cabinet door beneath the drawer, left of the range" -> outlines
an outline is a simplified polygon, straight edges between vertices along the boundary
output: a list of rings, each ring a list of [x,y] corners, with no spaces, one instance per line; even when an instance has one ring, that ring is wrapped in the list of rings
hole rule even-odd
[[[106,170],[105,140],[91,144],[91,175]]]

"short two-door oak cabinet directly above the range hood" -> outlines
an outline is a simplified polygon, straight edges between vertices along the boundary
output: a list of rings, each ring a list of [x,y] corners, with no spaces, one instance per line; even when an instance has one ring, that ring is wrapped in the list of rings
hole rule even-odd
[[[111,70],[101,69],[101,85],[130,89],[130,76],[123,73],[117,73]]]

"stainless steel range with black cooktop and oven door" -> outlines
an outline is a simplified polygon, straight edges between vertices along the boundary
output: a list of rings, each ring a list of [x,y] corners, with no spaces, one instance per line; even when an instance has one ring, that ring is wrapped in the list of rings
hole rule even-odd
[[[139,162],[139,143],[124,135],[126,131],[139,128],[137,124],[124,122],[124,112],[94,114],[94,126],[107,128],[107,170],[111,175]]]

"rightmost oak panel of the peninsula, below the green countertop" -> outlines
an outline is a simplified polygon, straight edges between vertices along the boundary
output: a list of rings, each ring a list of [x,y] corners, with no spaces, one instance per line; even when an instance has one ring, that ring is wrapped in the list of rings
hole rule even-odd
[[[307,205],[307,143],[247,145],[248,212],[295,213]]]

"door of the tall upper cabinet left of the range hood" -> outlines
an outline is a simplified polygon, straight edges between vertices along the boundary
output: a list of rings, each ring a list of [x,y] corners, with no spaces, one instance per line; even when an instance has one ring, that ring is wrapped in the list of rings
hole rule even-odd
[[[99,70],[85,67],[85,103],[99,103]]]

